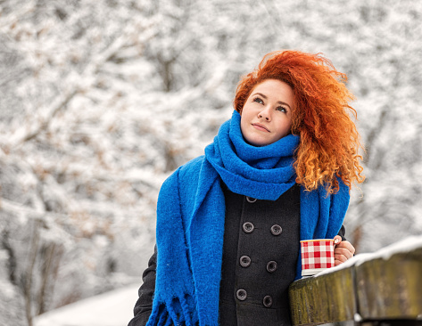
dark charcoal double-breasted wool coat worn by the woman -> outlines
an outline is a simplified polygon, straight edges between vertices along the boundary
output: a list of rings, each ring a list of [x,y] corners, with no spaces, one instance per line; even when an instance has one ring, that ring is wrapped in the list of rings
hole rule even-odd
[[[290,325],[288,286],[294,281],[299,255],[300,187],[294,185],[275,201],[230,192],[224,183],[221,188],[226,218],[220,325]],[[343,227],[339,235],[343,238]],[[144,326],[151,314],[156,255],[155,249],[143,274],[135,317],[128,326]]]

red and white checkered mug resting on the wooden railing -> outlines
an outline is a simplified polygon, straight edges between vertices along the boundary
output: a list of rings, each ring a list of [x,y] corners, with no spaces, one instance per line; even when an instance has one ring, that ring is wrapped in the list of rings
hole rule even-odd
[[[302,276],[315,275],[334,267],[334,239],[301,241]]]

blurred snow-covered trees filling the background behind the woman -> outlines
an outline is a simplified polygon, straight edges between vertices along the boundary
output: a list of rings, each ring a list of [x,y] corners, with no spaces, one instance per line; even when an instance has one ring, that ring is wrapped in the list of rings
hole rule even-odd
[[[162,181],[274,50],[349,77],[367,180],[348,240],[420,234],[421,29],[412,0],[0,0],[0,325],[141,283]]]

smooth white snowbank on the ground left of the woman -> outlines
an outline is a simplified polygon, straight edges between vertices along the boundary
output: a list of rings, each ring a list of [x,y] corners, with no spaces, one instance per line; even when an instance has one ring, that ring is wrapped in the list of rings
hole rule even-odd
[[[139,284],[88,297],[40,314],[34,326],[126,326],[133,317]]]

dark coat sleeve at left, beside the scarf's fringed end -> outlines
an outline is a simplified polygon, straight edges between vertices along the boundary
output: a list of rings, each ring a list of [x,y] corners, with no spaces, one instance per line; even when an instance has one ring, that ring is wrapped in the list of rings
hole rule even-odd
[[[148,267],[142,274],[144,283],[138,290],[138,299],[133,309],[134,318],[128,326],[145,326],[153,310],[153,293],[155,290],[155,271],[157,268],[157,246],[154,247],[153,256],[148,262]]]

